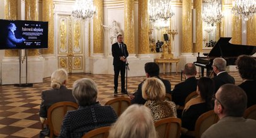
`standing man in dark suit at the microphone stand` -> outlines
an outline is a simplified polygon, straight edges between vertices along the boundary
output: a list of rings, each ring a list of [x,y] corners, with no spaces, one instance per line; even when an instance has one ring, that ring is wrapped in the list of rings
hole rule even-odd
[[[121,73],[121,93],[127,93],[125,90],[125,66],[126,58],[129,55],[123,36],[118,34],[118,42],[112,45],[112,56],[114,65],[114,93],[118,93],[118,76]]]

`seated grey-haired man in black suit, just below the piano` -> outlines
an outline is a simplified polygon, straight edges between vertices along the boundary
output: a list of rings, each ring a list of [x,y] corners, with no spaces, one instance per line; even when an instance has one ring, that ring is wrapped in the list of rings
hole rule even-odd
[[[235,84],[235,79],[226,72],[226,60],[224,58],[214,58],[213,72],[216,77],[213,77],[215,92],[226,83]]]

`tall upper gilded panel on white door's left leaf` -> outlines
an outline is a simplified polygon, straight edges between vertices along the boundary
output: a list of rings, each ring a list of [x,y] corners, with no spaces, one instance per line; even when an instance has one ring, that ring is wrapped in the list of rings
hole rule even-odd
[[[67,45],[67,34],[68,34],[68,16],[60,16],[58,19],[58,53],[67,54],[68,45]]]

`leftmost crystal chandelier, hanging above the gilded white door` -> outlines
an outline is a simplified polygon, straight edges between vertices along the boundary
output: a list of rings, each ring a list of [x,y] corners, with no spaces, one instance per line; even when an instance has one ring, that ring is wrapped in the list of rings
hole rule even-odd
[[[77,19],[91,19],[96,14],[93,0],[75,0],[72,16]]]

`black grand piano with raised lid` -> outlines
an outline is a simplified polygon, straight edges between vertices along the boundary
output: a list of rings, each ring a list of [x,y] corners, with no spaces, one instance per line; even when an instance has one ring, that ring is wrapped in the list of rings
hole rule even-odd
[[[198,57],[194,65],[201,67],[201,77],[204,77],[204,68],[206,68],[206,76],[209,77],[213,70],[213,59],[217,57],[224,58],[226,65],[235,65],[235,60],[240,55],[253,55],[256,52],[256,46],[235,45],[229,43],[231,38],[220,38],[213,46],[208,56]]]

